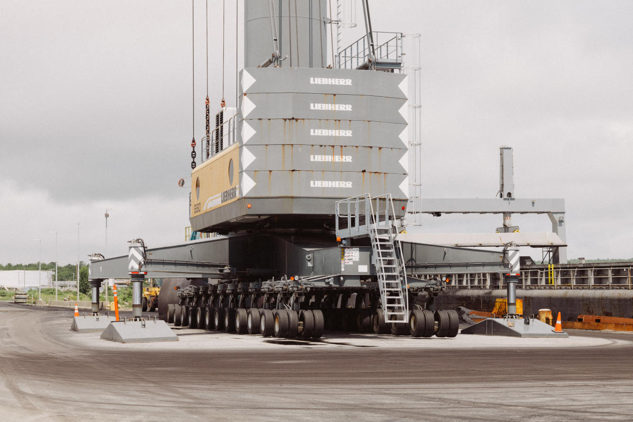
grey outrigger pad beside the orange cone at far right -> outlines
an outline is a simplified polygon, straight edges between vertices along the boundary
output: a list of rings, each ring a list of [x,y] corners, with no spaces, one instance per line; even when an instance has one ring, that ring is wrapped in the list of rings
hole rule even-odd
[[[554,327],[539,320],[523,318],[487,318],[461,330],[462,334],[505,335],[508,337],[569,337],[567,333],[557,333]]]

